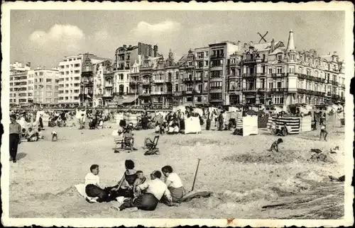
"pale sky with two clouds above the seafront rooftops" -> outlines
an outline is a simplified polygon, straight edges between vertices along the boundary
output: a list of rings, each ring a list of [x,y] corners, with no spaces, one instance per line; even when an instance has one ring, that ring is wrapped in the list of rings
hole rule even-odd
[[[158,45],[175,59],[224,40],[281,40],[293,30],[297,50],[344,58],[344,11],[70,11],[11,10],[11,62],[58,66],[62,57],[92,53],[114,59],[122,45]]]

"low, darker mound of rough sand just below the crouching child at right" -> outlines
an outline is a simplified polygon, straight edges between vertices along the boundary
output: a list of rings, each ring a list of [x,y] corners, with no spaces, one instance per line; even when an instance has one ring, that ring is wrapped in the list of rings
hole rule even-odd
[[[265,154],[235,154],[233,156],[226,156],[223,160],[241,163],[280,164],[290,163],[293,161],[305,161],[305,157],[303,157],[300,152],[285,150],[279,153],[266,152]]]

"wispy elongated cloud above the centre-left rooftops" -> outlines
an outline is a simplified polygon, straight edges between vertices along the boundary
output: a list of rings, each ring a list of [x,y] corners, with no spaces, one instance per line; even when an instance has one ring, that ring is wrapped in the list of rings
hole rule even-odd
[[[138,23],[136,28],[133,28],[133,34],[138,35],[161,35],[162,33],[173,33],[180,30],[181,24],[175,21],[163,21],[156,24],[150,24],[146,21]]]

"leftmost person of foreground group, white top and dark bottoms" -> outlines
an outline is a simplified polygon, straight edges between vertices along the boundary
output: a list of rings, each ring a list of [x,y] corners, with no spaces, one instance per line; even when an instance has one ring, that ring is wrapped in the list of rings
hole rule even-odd
[[[102,203],[109,198],[109,193],[100,186],[99,166],[97,164],[90,166],[90,173],[85,176],[85,193],[89,197],[87,198],[89,203]]]

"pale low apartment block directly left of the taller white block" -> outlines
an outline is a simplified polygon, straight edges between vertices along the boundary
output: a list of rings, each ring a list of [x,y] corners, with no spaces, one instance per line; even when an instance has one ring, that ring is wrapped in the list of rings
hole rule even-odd
[[[33,103],[58,103],[59,76],[57,69],[42,68],[28,72],[28,94],[30,91],[33,93]]]

